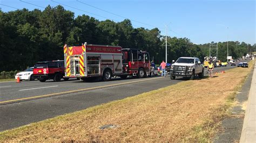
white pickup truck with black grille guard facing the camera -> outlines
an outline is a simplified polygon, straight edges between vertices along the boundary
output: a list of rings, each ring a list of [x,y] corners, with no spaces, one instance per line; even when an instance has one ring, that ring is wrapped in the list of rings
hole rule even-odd
[[[190,77],[190,80],[194,80],[195,75],[204,77],[204,66],[198,58],[180,57],[172,64],[170,73],[171,80],[175,80],[176,76]]]

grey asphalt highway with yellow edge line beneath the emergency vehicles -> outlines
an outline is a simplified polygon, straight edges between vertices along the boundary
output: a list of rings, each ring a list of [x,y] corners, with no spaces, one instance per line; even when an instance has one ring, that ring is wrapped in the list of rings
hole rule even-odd
[[[218,67],[217,71],[236,66]],[[206,70],[205,70],[206,75]],[[83,110],[188,80],[167,77],[112,81],[23,81],[0,83],[0,131]]]

